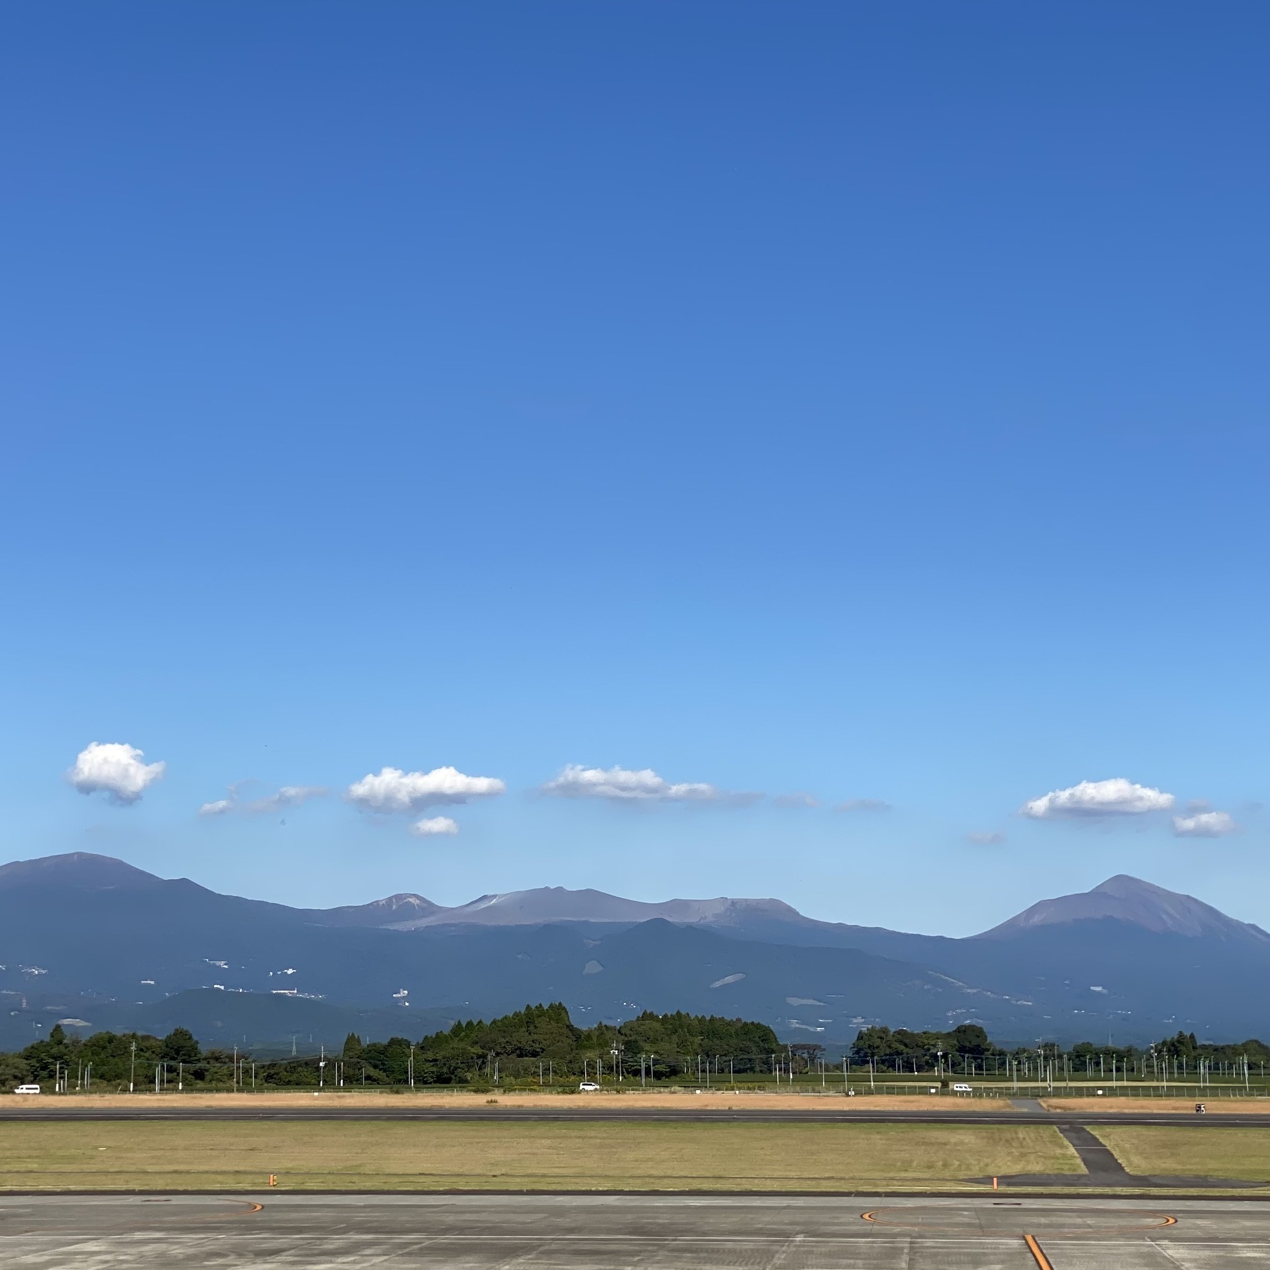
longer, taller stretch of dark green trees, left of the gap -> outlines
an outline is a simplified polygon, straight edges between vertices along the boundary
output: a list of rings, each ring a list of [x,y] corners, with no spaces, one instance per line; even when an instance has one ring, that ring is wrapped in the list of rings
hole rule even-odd
[[[702,1069],[767,1071],[782,1054],[766,1024],[645,1011],[621,1025],[578,1027],[559,1002],[456,1022],[419,1040],[367,1041],[349,1033],[338,1052],[268,1062],[246,1050],[203,1049],[184,1027],[161,1038],[109,1031],[81,1038],[58,1024],[47,1039],[0,1054],[0,1091],[27,1082],[104,1091],[665,1080]]]

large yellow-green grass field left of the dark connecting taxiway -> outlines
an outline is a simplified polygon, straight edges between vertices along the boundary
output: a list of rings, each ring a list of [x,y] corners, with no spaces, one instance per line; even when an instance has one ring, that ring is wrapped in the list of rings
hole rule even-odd
[[[5,1124],[4,1190],[848,1190],[1082,1172],[1048,1125]],[[1073,1181],[1076,1179],[1073,1177]]]

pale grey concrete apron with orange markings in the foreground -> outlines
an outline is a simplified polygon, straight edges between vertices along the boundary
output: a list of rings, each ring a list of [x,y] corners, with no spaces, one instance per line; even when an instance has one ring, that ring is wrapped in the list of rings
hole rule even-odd
[[[3,1196],[6,1270],[1226,1270],[1265,1201]]]

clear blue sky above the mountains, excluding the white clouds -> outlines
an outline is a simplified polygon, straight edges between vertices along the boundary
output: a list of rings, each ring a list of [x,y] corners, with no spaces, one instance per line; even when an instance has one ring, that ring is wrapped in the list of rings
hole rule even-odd
[[[0,857],[1270,926],[1262,4],[0,23]]]

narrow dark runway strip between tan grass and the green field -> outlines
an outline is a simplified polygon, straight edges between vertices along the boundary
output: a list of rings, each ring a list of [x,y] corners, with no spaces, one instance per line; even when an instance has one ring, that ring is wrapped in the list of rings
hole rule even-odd
[[[697,1124],[1185,1124],[1195,1128],[1205,1125],[1247,1125],[1270,1128],[1270,1114],[1243,1113],[1208,1115],[1180,1111],[867,1111],[843,1107],[842,1110],[772,1110],[772,1109],[714,1109],[714,1107],[422,1107],[385,1104],[382,1107],[342,1107],[337,1104],[300,1105],[290,1107],[206,1107],[182,1106],[179,1097],[160,1106],[154,1104],[137,1107],[91,1107],[74,1105],[33,1106],[5,1099],[0,1104],[0,1124],[6,1120],[528,1120],[528,1121],[646,1121],[678,1120]]]

